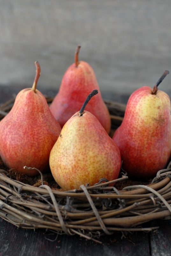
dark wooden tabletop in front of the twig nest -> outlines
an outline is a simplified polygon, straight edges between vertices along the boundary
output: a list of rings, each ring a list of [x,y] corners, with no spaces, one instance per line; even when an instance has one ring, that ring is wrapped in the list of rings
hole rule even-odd
[[[99,238],[102,244],[77,235],[67,236],[46,230],[18,229],[0,219],[0,256],[170,256],[171,220],[157,220],[153,232],[114,233]]]

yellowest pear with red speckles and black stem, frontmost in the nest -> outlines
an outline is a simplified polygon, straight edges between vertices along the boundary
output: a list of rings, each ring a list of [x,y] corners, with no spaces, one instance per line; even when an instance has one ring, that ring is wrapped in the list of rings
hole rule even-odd
[[[93,90],[79,112],[63,126],[49,158],[53,178],[66,190],[94,185],[101,178],[118,178],[120,151],[96,116],[84,108],[98,91]]]

